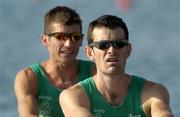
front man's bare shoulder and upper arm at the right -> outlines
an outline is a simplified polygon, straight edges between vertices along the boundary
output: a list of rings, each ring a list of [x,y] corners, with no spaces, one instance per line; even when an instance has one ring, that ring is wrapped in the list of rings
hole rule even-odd
[[[164,85],[152,81],[146,81],[141,97],[143,110],[148,116],[173,116],[169,105],[169,92]]]

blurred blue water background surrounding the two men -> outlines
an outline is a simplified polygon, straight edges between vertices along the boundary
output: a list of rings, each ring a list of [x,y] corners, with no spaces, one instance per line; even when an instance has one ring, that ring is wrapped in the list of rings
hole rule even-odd
[[[132,54],[126,71],[164,84],[171,108],[180,116],[180,1],[179,0],[0,0],[0,115],[18,117],[14,95],[16,73],[47,59],[40,43],[44,14],[57,5],[75,9],[83,19],[87,59],[88,23],[102,14],[127,23]]]

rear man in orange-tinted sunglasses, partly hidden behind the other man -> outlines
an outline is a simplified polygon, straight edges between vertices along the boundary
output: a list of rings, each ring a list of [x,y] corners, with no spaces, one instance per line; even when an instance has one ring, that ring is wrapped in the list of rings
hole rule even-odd
[[[95,71],[93,62],[76,59],[82,41],[82,22],[73,9],[57,6],[46,13],[41,42],[49,58],[17,73],[20,117],[64,117],[59,94]]]

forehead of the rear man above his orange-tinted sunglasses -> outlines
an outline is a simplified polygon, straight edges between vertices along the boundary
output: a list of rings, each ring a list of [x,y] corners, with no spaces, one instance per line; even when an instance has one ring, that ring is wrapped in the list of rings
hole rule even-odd
[[[62,23],[51,23],[49,26],[49,31],[73,33],[73,32],[81,32],[81,29],[80,29],[80,25],[78,24],[64,25]]]

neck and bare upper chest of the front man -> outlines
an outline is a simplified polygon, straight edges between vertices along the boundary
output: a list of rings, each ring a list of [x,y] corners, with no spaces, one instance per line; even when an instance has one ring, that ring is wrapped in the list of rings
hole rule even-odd
[[[97,74],[94,77],[95,84],[99,92],[110,104],[117,105],[122,102],[128,92],[130,76],[116,75],[104,76]]]

